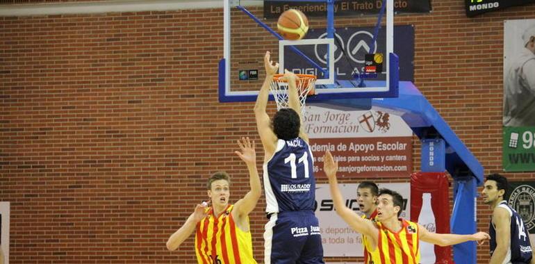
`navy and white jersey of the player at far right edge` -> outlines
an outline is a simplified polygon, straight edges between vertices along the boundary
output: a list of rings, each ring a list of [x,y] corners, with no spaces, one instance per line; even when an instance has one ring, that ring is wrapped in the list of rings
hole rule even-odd
[[[511,208],[507,201],[502,201],[498,207],[505,208],[509,215],[511,215],[511,246],[507,251],[507,256],[504,263],[529,263],[533,256],[532,245],[529,243],[529,234],[527,228],[520,218],[520,215]],[[491,220],[488,228],[488,233],[491,235],[491,256],[496,249],[496,229]]]

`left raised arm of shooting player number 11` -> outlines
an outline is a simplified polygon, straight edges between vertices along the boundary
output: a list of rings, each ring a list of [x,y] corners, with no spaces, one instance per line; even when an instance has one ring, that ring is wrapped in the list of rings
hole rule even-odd
[[[274,74],[277,73],[277,69],[279,69],[279,63],[273,64],[270,51],[265,52],[264,67],[265,80],[260,92],[258,92],[258,97],[256,97],[254,116],[256,118],[256,129],[258,129],[258,135],[260,135],[265,150],[265,158],[269,158],[271,156],[269,154],[272,154],[275,151],[275,147],[277,147],[277,135],[273,133],[270,117],[265,110],[268,106],[270,83]]]

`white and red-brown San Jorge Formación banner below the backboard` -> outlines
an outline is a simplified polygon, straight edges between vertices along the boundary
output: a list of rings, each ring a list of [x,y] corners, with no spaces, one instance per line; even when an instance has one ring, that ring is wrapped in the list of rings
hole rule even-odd
[[[306,106],[304,129],[318,178],[325,176],[322,156],[327,150],[338,160],[340,176],[409,179],[411,175],[412,130],[397,115]]]

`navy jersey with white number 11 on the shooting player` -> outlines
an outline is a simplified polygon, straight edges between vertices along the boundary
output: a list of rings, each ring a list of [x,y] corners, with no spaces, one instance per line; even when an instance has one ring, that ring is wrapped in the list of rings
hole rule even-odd
[[[313,156],[302,138],[279,139],[263,169],[266,213],[314,210]]]

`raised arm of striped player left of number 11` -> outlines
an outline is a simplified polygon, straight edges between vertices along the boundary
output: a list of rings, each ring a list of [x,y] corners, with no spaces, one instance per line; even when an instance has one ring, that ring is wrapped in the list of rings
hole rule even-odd
[[[240,151],[234,151],[247,165],[249,170],[249,185],[251,190],[247,192],[245,197],[234,204],[234,210],[238,213],[238,217],[249,215],[253,211],[258,199],[262,195],[262,185],[260,177],[258,176],[258,169],[256,168],[256,152],[254,151],[254,141],[251,142],[249,138],[242,138],[238,140]]]

